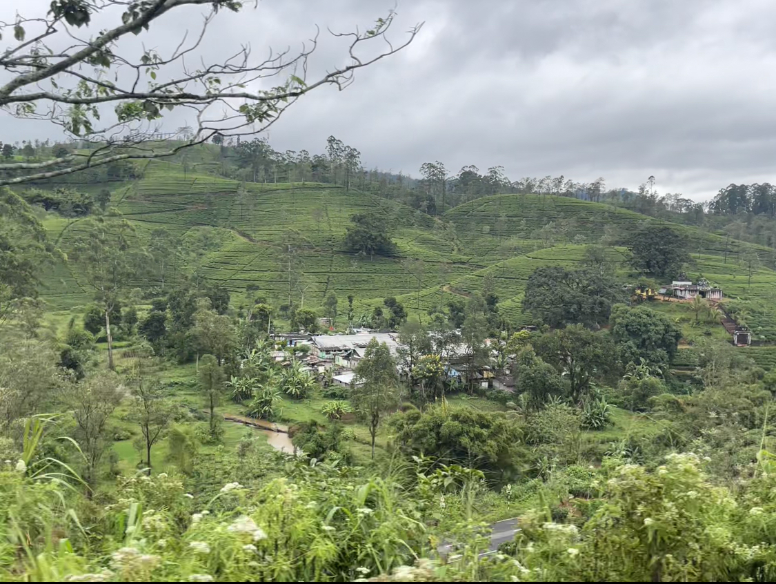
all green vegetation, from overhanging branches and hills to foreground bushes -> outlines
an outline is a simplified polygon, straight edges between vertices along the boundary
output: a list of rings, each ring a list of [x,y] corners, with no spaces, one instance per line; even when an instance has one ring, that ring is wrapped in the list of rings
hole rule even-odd
[[[773,187],[702,205],[653,177],[631,193],[438,161],[414,180],[333,136],[279,153],[202,115],[128,154],[95,104],[123,127],[229,103],[232,85],[210,68],[190,79],[203,96],[165,85],[177,57],[144,49],[153,83],[127,92],[103,81],[126,61],[114,40],[242,4],[112,4],[122,24],[64,54],[36,43],[99,3],[19,16],[0,57],[17,75],[0,106],[47,79],[40,99],[75,99],[51,115],[84,138],[0,149],[0,579],[776,579]],[[237,117],[271,123],[375,62],[351,57]],[[70,75],[75,97],[54,82]],[[680,277],[725,297],[654,292]],[[359,347],[349,384],[295,342],[356,327],[399,346]]]

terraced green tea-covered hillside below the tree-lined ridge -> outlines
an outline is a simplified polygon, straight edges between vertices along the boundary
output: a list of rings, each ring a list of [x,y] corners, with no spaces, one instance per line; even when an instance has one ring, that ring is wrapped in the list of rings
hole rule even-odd
[[[439,219],[400,203],[354,189],[317,183],[244,185],[193,173],[165,161],[148,162],[144,178],[113,188],[113,205],[141,235],[164,228],[182,237],[185,269],[226,286],[235,301],[256,290],[276,306],[286,301],[288,284],[282,252],[297,249],[302,277],[297,302],[320,307],[334,292],[356,298],[358,310],[397,296],[411,311],[442,308],[455,296],[480,290],[494,278],[499,308],[515,325],[529,322],[521,310],[528,276],[540,266],[572,267],[586,245],[608,236],[616,241],[649,217],[603,203],[555,196],[497,195],[465,203]],[[397,251],[374,259],[345,248],[352,214],[374,211],[393,229]],[[78,220],[50,217],[52,238],[65,251],[78,233]],[[545,231],[541,231],[549,224]],[[687,236],[694,265],[688,276],[705,276],[722,287],[731,306],[747,315],[756,338],[776,340],[776,272],[773,251],[698,228],[672,227]],[[548,235],[549,233],[549,235]],[[762,267],[748,287],[741,252],[757,249]],[[624,280],[635,279],[623,249],[608,248],[608,261]],[[61,263],[44,278],[52,308],[86,304],[88,290],[78,271]],[[303,297],[303,298],[302,298]]]

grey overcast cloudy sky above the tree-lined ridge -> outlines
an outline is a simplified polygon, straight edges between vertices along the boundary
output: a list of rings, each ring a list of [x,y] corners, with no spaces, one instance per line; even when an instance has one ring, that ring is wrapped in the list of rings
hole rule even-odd
[[[2,0],[33,13],[48,0]],[[261,0],[223,11],[210,56],[251,43],[300,47],[324,33],[312,70],[345,63],[325,32],[352,30],[392,0]],[[175,44],[202,8],[141,35]],[[511,179],[563,174],[695,199],[729,183],[776,181],[776,4],[771,0],[403,0],[390,39],[425,25],[402,53],[358,72],[338,92],[305,96],[270,131],[279,150],[324,150],[334,134],[369,168],[417,176],[503,165]],[[6,40],[0,41],[0,44]],[[158,45],[156,44],[158,43]],[[211,59],[212,61],[213,59]],[[0,114],[2,115],[2,114]],[[180,120],[170,120],[174,129]],[[0,140],[29,137],[0,118]],[[36,137],[56,137],[36,126]]]

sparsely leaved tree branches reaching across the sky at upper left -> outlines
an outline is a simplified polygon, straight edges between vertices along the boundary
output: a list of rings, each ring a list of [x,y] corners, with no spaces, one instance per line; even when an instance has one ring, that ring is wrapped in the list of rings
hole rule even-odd
[[[120,41],[127,35],[148,33],[151,26],[174,10],[207,5],[201,29],[190,42],[189,31],[175,50],[162,56],[155,49],[143,48],[140,58],[120,54]],[[101,30],[93,40],[81,39],[74,29],[89,26],[98,13],[123,11],[122,23]],[[275,53],[255,61],[246,44],[220,63],[190,68],[194,52],[202,47],[208,26],[220,9],[234,12],[242,9],[236,0],[55,0],[43,18],[19,17],[16,23],[0,22],[0,32],[13,29],[18,41],[0,54],[0,66],[11,73],[0,86],[0,109],[12,116],[49,120],[61,126],[66,134],[91,144],[87,154],[60,156],[40,162],[0,164],[0,186],[64,176],[80,170],[130,159],[161,158],[177,154],[184,148],[203,144],[213,136],[243,136],[266,130],[297,99],[324,85],[345,89],[353,82],[356,70],[407,47],[421,24],[412,27],[403,43],[394,47],[386,39],[396,13],[361,32],[336,33],[347,37],[350,44],[348,63],[327,71],[309,81],[307,61],[317,48],[317,35],[309,46],[291,54]],[[36,34],[25,40],[26,30],[37,27]],[[58,39],[64,39],[61,42]],[[69,38],[74,40],[71,43]],[[368,56],[360,47],[383,39],[386,45]],[[70,45],[68,49],[51,50],[47,43]],[[54,45],[52,45],[54,46]],[[387,48],[386,48],[387,47]],[[174,65],[183,75],[170,75]],[[92,71],[89,71],[92,68]],[[113,71],[112,71],[113,68]],[[130,75],[122,73],[128,69]],[[120,82],[120,73],[124,82]],[[166,75],[165,75],[166,74]],[[159,78],[165,75],[166,79]],[[127,79],[127,77],[131,77]],[[279,77],[274,87],[269,78]],[[140,89],[143,78],[147,88]],[[124,86],[129,85],[129,87]],[[42,86],[42,84],[50,85]],[[255,85],[263,87],[257,89]],[[113,104],[113,112],[106,106]],[[192,135],[173,146],[160,139],[148,124],[161,123],[165,113],[175,108],[192,109],[196,128]],[[105,123],[105,116],[113,119]],[[97,127],[99,125],[99,127]]]

